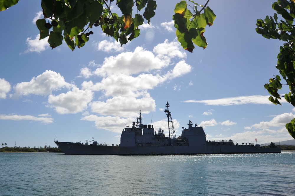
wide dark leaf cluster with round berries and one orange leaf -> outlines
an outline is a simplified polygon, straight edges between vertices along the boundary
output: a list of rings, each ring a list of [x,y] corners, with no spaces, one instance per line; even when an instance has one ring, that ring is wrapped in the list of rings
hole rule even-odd
[[[73,51],[89,41],[92,29],[100,26],[102,31],[120,42],[121,46],[140,34],[138,28],[144,19],[155,15],[154,0],[117,0],[122,15],[110,10],[114,0],[42,0],[44,18],[37,20],[40,39],[48,37],[50,47],[55,48],[63,40]],[[135,5],[135,6],[134,6]],[[132,15],[133,7],[137,14]],[[145,8],[143,16],[139,11]]]

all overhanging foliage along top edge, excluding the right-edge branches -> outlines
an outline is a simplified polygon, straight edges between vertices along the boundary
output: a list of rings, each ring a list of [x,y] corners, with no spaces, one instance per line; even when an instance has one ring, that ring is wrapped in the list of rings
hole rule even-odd
[[[17,2],[0,0],[0,9],[5,10]],[[178,41],[185,50],[192,52],[194,44],[207,47],[203,35],[205,27],[211,26],[216,16],[206,7],[209,0],[205,6],[192,0],[189,2],[192,5],[188,5],[187,1],[176,4],[173,20]],[[121,13],[112,12],[111,6],[114,4]],[[201,7],[200,11],[198,7]],[[36,22],[40,39],[47,38],[51,48],[58,47],[64,40],[74,50],[88,42],[95,27],[101,27],[107,36],[116,39],[121,46],[126,44],[140,35],[140,25],[145,21],[150,24],[157,4],[155,0],[41,0],[41,8],[44,18]]]

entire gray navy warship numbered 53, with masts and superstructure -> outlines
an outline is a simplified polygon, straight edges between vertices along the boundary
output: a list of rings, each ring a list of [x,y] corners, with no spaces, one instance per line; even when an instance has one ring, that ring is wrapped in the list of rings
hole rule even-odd
[[[165,113],[168,118],[168,136],[164,131],[154,130],[153,125],[142,124],[142,117],[136,118],[132,126],[127,126],[121,134],[119,145],[98,144],[97,141],[60,142],[55,144],[65,154],[89,155],[166,155],[166,154],[240,154],[240,153],[281,153],[281,148],[275,143],[260,146],[253,143],[234,143],[232,140],[206,140],[203,127],[193,125],[191,121],[188,128],[182,127],[181,135],[176,138],[169,103],[166,104]],[[88,144],[88,142],[92,142]]]

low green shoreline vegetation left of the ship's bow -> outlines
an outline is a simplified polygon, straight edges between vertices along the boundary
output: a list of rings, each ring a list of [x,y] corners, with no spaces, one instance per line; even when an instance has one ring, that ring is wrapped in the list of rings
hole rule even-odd
[[[50,147],[50,146],[44,146],[44,147],[39,147],[39,146],[34,146],[34,148],[31,147],[2,147],[0,149],[0,152],[63,152],[60,148],[57,147]]]

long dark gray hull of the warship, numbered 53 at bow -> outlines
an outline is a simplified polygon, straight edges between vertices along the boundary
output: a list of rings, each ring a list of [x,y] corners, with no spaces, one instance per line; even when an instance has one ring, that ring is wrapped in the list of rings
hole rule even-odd
[[[167,155],[167,154],[249,154],[281,153],[281,148],[256,148],[252,145],[200,146],[100,146],[55,141],[65,154],[88,155]]]

